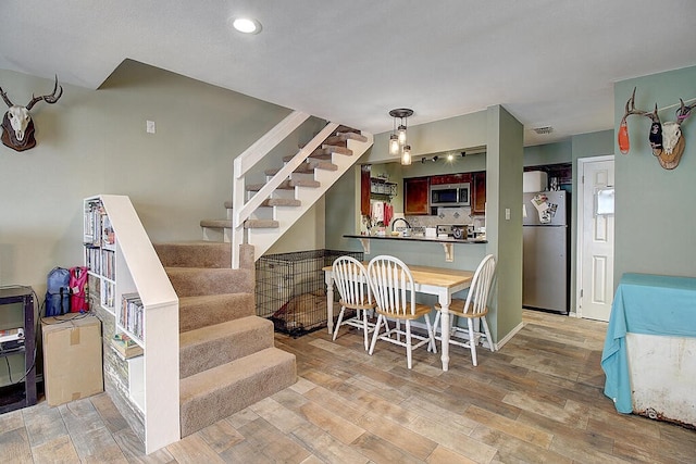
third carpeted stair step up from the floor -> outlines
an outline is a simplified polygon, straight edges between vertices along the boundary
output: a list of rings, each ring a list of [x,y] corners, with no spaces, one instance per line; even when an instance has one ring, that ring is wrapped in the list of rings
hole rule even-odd
[[[253,316],[256,312],[253,292],[181,297],[178,299],[178,330],[179,333],[195,330],[225,321]]]

